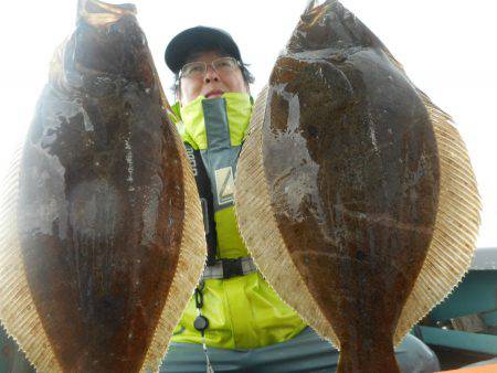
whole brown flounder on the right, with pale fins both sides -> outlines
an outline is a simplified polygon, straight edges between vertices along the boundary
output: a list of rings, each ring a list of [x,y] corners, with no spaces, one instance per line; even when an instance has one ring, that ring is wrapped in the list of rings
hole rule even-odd
[[[393,344],[461,280],[479,224],[451,118],[338,1],[309,7],[277,60],[235,201],[262,273],[341,372],[398,371]]]

